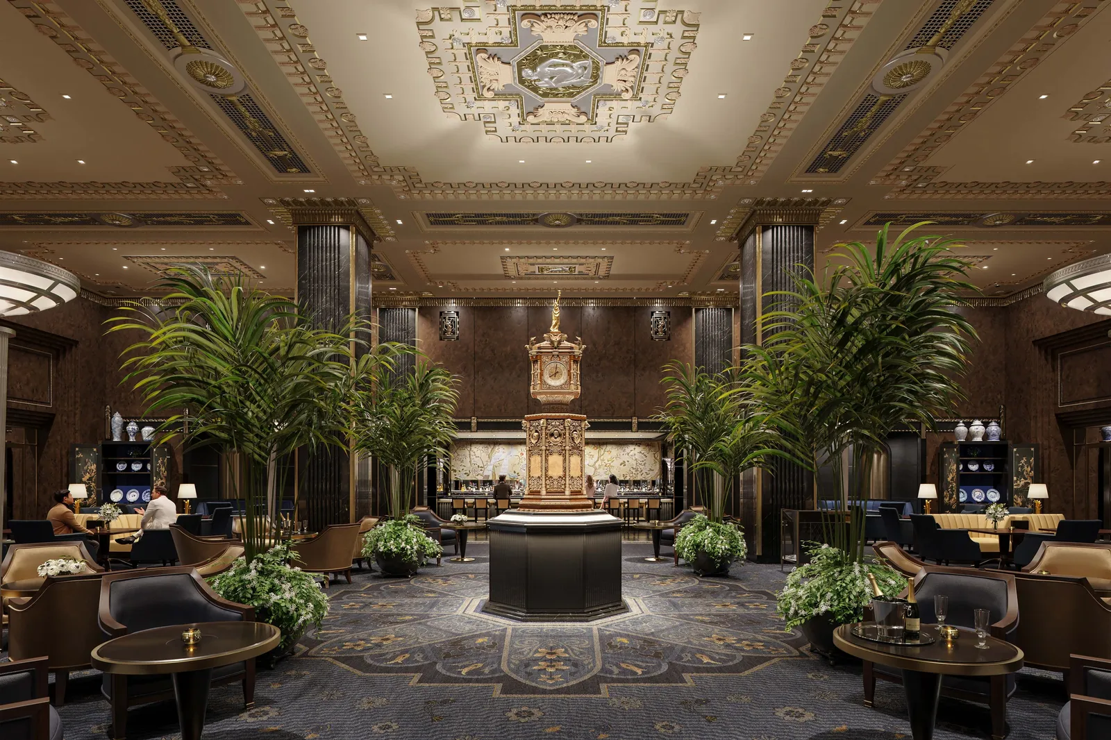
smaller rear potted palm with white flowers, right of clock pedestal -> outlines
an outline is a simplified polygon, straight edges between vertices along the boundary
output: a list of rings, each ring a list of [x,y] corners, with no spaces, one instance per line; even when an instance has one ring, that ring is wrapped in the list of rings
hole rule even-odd
[[[668,439],[685,451],[694,472],[693,500],[705,513],[683,524],[675,552],[699,576],[725,576],[748,553],[740,527],[725,519],[739,476],[777,454],[777,434],[733,373],[711,376],[681,362],[664,366],[667,404],[658,418]]]

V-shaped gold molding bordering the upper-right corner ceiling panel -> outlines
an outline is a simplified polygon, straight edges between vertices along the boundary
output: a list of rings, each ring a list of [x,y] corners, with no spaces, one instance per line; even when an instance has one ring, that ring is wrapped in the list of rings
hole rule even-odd
[[[1107,198],[1111,183],[1100,182],[945,182],[940,180],[947,168],[928,167],[941,147],[951,141],[961,129],[992,102],[1005,94],[1011,87],[1083,27],[1101,8],[1101,0],[1055,2],[1033,28],[1022,34],[1007,52],[969,86],[944,112],[918,134],[891,160],[869,184],[893,188],[887,198]],[[1093,4],[1094,3],[1094,4]],[[1018,7],[1014,3],[997,20],[995,26]],[[992,28],[991,30],[994,30]],[[982,41],[990,32],[981,33]],[[955,67],[955,66],[951,66]],[[911,112],[924,101],[919,99]],[[1071,109],[1070,109],[1071,110]],[[890,136],[890,132],[889,134]],[[882,143],[882,141],[880,142]]]

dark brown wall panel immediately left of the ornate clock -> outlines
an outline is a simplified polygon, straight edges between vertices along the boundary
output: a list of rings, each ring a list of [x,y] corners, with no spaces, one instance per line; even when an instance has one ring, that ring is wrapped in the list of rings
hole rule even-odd
[[[474,408],[480,418],[529,412],[529,309],[476,307]],[[548,327],[544,327],[547,329]]]

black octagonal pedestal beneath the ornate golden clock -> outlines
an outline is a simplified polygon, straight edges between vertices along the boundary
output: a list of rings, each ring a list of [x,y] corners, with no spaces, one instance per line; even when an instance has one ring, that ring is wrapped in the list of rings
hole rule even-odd
[[[589,621],[628,611],[621,520],[604,511],[511,510],[491,519],[482,611],[523,621]]]

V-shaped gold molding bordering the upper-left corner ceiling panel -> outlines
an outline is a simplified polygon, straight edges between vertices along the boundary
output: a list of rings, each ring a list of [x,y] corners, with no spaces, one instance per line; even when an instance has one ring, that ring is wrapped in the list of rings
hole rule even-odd
[[[104,86],[151,126],[168,144],[192,162],[170,168],[180,182],[6,182],[0,198],[227,198],[221,186],[242,184],[197,137],[176,119],[149,90],[78,26],[54,0],[8,0],[36,30],[53,41],[78,67]]]

